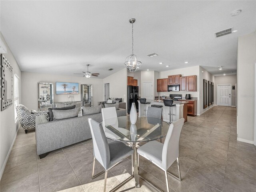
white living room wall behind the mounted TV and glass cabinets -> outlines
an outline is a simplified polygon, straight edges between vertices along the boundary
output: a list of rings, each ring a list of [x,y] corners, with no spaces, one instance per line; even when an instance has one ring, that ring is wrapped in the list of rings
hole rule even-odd
[[[103,84],[99,78],[85,78],[75,76],[63,76],[53,74],[41,74],[22,72],[22,104],[29,109],[38,110],[38,82],[54,83],[54,102],[67,102],[67,95],[56,95],[56,82],[79,83],[79,94],[72,94],[70,101],[81,100],[81,84],[92,84],[93,105],[96,106],[98,101],[103,101]],[[74,96],[74,100],[73,100]]]

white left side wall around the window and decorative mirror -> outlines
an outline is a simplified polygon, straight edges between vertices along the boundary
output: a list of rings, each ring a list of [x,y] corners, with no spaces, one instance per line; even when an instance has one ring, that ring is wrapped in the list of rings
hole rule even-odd
[[[8,61],[11,63],[13,68],[13,82],[14,85],[14,74],[17,74],[19,79],[19,100],[21,100],[21,72],[20,68],[12,55],[12,52],[10,48],[8,47],[6,41],[4,40],[4,37],[2,33],[0,33],[1,39],[4,41],[4,43],[7,46],[7,54],[3,54]],[[13,86],[13,93],[14,93],[14,86]],[[13,97],[12,97],[13,98]],[[10,154],[10,151],[12,150],[12,145],[14,143],[14,140],[16,138],[16,132],[18,130],[18,121],[15,123],[14,120],[14,104],[7,108],[4,111],[0,112],[0,165],[1,165],[1,177],[2,173],[4,171],[4,167],[6,165],[8,156]]]

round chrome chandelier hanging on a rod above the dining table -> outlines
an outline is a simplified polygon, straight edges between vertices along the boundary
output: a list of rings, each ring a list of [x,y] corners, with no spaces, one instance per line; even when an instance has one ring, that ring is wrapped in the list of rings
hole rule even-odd
[[[132,18],[129,22],[132,24],[132,54],[126,57],[124,65],[130,72],[138,71],[141,65],[141,62],[137,60],[137,56],[133,54],[133,23],[136,19]]]

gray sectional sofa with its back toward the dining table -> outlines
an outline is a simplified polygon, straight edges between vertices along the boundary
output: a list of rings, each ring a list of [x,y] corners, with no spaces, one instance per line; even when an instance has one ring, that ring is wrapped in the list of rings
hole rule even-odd
[[[126,116],[126,110],[116,110],[117,116]],[[102,114],[84,115],[49,122],[46,116],[36,117],[36,152],[44,158],[47,152],[92,138],[88,118],[102,122]]]

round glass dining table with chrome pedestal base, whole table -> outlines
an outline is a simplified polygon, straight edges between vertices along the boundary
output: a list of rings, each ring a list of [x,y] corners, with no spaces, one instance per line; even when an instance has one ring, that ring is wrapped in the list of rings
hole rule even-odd
[[[111,191],[117,190],[132,178],[135,179],[136,188],[139,188],[140,176],[138,173],[137,148],[140,146],[138,144],[164,138],[168,132],[169,124],[160,119],[149,117],[138,118],[135,124],[131,124],[129,116],[110,118],[102,121],[101,124],[106,138],[126,142],[134,150],[134,154],[132,155],[132,176]]]

